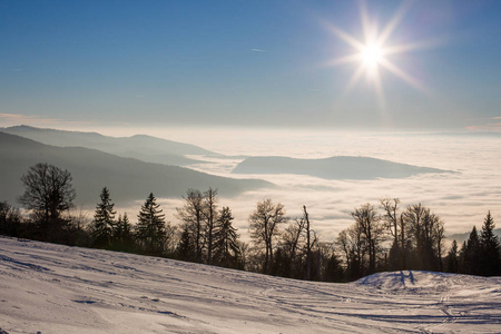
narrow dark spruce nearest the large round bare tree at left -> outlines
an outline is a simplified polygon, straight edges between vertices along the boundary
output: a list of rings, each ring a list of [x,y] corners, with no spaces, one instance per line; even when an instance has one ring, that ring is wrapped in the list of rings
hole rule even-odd
[[[109,247],[115,227],[115,204],[109,197],[108,188],[102,188],[101,202],[97,204],[94,214],[92,238],[94,246]]]

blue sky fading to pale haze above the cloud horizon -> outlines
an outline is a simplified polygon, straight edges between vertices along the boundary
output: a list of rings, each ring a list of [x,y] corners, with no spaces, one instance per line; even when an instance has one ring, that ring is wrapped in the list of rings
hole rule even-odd
[[[0,127],[501,131],[500,16],[495,0],[0,0]],[[386,37],[372,65],[367,36]]]

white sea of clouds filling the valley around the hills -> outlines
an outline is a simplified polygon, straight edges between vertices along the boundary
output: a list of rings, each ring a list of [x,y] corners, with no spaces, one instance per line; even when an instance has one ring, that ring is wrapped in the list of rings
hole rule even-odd
[[[261,178],[277,185],[272,189],[219,198],[219,206],[232,208],[234,224],[244,239],[248,238],[248,215],[257,202],[266,198],[284,204],[291,218],[301,216],[305,205],[314,229],[325,242],[333,240],[338,232],[353,224],[350,213],[355,207],[365,203],[379,207],[380,199],[385,197],[400,198],[402,208],[418,203],[430,207],[444,220],[446,235],[469,232],[473,225],[480,227],[488,210],[493,214],[494,222],[501,222],[501,136],[245,128],[168,129],[155,135],[234,156],[197,156],[207,163],[190,166],[193,169],[234,178]],[[232,169],[243,160],[240,156],[363,156],[454,173],[373,180],[232,174]],[[167,219],[173,224],[177,224],[175,213],[176,207],[183,205],[181,195],[179,198],[160,199]],[[138,212],[140,204],[138,202],[132,212]]]

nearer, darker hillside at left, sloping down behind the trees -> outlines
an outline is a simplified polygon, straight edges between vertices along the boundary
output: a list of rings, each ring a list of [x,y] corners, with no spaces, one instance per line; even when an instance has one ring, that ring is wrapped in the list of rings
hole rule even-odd
[[[37,163],[68,169],[73,177],[78,204],[96,204],[102,187],[118,202],[157,197],[180,197],[188,188],[218,188],[223,196],[272,186],[264,180],[233,179],[188,168],[124,158],[96,149],[48,146],[0,131],[0,200],[16,203],[23,193],[20,177]]]

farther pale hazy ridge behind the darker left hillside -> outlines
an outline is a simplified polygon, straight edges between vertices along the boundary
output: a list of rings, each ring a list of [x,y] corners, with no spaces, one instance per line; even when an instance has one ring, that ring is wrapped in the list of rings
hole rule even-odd
[[[187,158],[187,155],[219,156],[195,145],[145,135],[116,138],[97,132],[63,131],[29,126],[0,128],[0,131],[52,146],[94,148],[121,157],[174,166],[199,163],[199,160]]]

